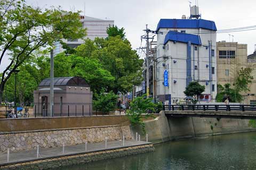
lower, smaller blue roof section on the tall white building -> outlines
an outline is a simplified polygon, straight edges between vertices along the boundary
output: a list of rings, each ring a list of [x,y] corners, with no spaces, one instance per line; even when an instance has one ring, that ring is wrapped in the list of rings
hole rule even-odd
[[[188,43],[188,41],[191,42],[191,44],[201,45],[201,38],[200,36],[193,35],[190,33],[181,33],[177,31],[169,31],[164,39],[164,45],[168,41],[179,41],[182,43]]]

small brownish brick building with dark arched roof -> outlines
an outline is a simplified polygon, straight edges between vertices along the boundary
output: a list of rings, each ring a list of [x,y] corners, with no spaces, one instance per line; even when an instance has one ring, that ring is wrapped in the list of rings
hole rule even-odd
[[[34,113],[50,116],[50,78],[34,91]],[[92,92],[81,77],[54,78],[54,116],[92,115]]]

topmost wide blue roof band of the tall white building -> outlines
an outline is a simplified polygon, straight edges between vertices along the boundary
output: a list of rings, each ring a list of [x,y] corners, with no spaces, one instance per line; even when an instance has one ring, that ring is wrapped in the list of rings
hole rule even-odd
[[[203,19],[161,19],[157,24],[156,31],[160,28],[204,28],[217,31],[215,22]]]

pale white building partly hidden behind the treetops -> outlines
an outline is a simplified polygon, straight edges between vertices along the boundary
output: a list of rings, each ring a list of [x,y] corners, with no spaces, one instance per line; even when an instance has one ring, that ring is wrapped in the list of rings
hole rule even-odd
[[[114,20],[101,20],[97,18],[92,18],[89,16],[80,16],[81,22],[83,23],[83,28],[86,28],[87,36],[83,39],[94,40],[95,37],[107,38],[107,29],[109,26],[114,25]],[[83,39],[74,39],[74,40],[63,40],[69,47],[75,48],[84,43]],[[60,43],[55,44],[54,55],[63,52],[63,49]]]

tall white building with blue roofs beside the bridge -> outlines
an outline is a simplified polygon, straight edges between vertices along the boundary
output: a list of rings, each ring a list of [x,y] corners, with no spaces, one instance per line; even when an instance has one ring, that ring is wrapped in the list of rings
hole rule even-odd
[[[190,15],[191,16],[191,15]],[[157,25],[156,95],[175,104],[186,97],[191,81],[205,86],[204,101],[217,94],[216,31],[213,21],[203,19],[161,19]],[[168,84],[164,86],[164,71]],[[209,98],[209,99],[208,99]]]

